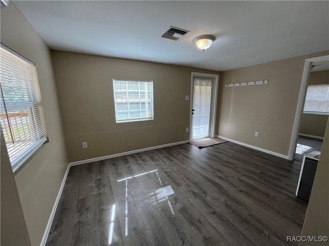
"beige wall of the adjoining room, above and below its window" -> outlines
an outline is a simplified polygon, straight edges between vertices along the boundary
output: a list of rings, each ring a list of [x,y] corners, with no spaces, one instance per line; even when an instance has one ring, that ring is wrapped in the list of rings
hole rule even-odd
[[[308,85],[329,84],[329,71],[310,73]],[[323,137],[328,115],[303,114],[300,133]]]

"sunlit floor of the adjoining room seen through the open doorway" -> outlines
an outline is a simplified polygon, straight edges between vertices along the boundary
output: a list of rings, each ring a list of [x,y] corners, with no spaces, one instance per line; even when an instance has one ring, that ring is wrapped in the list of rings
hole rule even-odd
[[[313,151],[321,151],[322,142],[323,140],[321,139],[299,136],[295,152],[295,159],[303,161],[304,155]]]

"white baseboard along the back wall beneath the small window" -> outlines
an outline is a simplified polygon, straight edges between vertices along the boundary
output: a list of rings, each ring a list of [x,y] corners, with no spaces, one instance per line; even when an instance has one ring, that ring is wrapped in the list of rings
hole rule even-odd
[[[170,146],[174,146],[174,145],[186,144],[188,142],[189,142],[189,140],[180,141],[180,142],[172,142],[171,144],[166,144],[166,145],[158,145],[158,146],[153,146],[153,147],[139,149],[139,150],[132,150],[132,151],[122,152],[122,153],[113,154],[113,155],[106,155],[106,156],[96,157],[96,158],[92,158],[92,159],[74,161],[74,162],[70,162],[70,166],[81,165],[81,164],[94,162],[94,161],[99,161],[99,160],[111,159],[111,158],[115,158],[115,157],[119,157],[119,156],[123,156],[123,155],[136,154],[136,153],[144,152],[144,151],[148,151],[148,150],[156,150],[156,149],[170,147]]]

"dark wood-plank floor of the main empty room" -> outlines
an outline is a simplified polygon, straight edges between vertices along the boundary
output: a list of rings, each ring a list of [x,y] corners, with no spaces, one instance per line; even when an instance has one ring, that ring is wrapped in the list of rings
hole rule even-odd
[[[47,245],[297,245],[300,166],[231,142],[74,166]]]

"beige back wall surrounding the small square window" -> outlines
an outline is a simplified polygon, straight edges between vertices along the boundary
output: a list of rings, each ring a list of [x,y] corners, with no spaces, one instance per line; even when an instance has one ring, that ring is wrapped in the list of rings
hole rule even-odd
[[[218,74],[60,51],[52,51],[52,61],[70,161],[188,140],[191,72]],[[117,124],[112,79],[153,80],[154,120]]]

